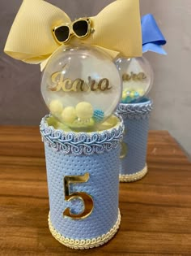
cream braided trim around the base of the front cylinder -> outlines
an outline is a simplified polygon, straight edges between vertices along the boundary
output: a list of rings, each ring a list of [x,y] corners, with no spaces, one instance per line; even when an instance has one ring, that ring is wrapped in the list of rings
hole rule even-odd
[[[75,240],[75,239],[71,239],[71,238],[62,236],[61,233],[57,232],[57,230],[55,228],[53,228],[53,224],[51,223],[50,214],[49,214],[49,230],[50,230],[51,234],[62,245],[66,245],[67,247],[70,247],[72,249],[91,249],[94,247],[98,247],[100,245],[104,245],[109,240],[111,240],[112,237],[117,233],[120,223],[121,223],[121,214],[120,214],[120,210],[119,210],[117,223],[115,223],[115,225],[110,229],[109,232],[107,232],[107,234],[98,236],[93,239]]]

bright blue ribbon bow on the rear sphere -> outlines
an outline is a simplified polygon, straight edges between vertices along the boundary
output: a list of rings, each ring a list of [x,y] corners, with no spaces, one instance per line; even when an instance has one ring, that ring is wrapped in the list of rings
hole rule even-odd
[[[153,51],[157,54],[166,55],[163,47],[167,41],[163,37],[155,18],[151,14],[142,16],[142,53]]]

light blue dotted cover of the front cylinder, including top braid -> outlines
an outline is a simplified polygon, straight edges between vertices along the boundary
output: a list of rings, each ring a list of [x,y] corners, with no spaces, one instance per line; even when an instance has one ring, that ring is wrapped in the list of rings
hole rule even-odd
[[[124,128],[122,121],[116,128],[104,132],[63,132],[49,127],[46,117],[40,124],[45,142],[45,158],[49,185],[50,221],[62,236],[87,240],[106,234],[117,223],[120,141]],[[63,217],[70,208],[80,214],[83,201],[65,200],[64,177],[83,176],[86,183],[70,184],[70,193],[90,195],[94,209],[85,219]]]

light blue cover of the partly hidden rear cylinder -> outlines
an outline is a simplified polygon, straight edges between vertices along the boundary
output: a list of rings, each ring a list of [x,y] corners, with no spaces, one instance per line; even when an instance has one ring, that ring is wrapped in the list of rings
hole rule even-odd
[[[149,130],[149,117],[152,102],[143,99],[140,103],[120,104],[117,114],[125,124],[123,142],[127,147],[125,158],[121,159],[121,175],[132,175],[146,166],[146,148]]]

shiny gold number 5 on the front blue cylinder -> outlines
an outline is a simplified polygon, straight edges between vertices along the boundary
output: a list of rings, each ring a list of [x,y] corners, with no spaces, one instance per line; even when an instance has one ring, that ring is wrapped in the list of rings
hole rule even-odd
[[[65,199],[70,202],[74,199],[81,199],[84,204],[84,210],[79,215],[74,215],[70,212],[70,208],[66,208],[63,212],[64,217],[70,217],[72,219],[85,219],[91,215],[94,209],[94,202],[90,195],[84,192],[70,193],[70,184],[74,183],[85,183],[89,180],[89,173],[85,173],[83,176],[65,176],[64,188],[65,188]]]

